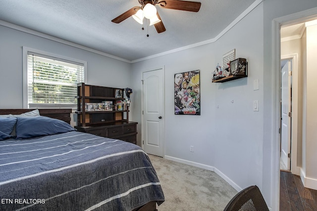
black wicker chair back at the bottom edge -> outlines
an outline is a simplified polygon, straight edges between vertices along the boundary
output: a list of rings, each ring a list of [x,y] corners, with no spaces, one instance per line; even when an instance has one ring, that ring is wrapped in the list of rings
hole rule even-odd
[[[223,211],[268,211],[268,208],[260,189],[254,185],[235,195]]]

